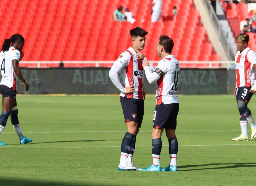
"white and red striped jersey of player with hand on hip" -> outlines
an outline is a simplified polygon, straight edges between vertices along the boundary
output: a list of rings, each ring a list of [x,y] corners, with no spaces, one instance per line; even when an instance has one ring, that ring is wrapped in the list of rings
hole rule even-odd
[[[124,51],[114,64],[119,65],[121,69],[122,80],[125,86],[134,85],[134,91],[132,94],[124,94],[121,92],[121,96],[127,96],[128,98],[135,98],[144,100],[143,96],[143,80],[144,69],[142,67],[142,61],[136,58],[136,52],[129,47]]]

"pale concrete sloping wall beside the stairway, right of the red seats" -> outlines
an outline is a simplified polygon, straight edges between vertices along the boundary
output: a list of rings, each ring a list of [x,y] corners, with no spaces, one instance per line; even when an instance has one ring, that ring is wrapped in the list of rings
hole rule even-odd
[[[201,15],[201,21],[206,29],[209,40],[211,41],[213,48],[220,55],[222,61],[231,60],[227,55],[226,49],[222,46],[220,39],[218,38],[217,28],[210,20],[210,15],[208,10],[204,6],[204,2],[202,0],[194,0],[194,4],[197,10],[199,10]]]

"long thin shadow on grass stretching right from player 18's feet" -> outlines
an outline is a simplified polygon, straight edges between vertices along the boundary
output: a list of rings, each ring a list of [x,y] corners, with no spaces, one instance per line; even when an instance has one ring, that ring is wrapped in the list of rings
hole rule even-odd
[[[222,166],[222,165],[224,165],[224,166]],[[179,168],[183,169],[183,168],[192,168],[192,167],[200,167],[200,166],[214,166],[214,167],[186,169],[186,170],[179,170],[179,171],[256,167],[256,162],[253,162],[253,163],[210,163],[210,164],[202,164],[202,165],[185,165],[185,166],[179,166]],[[222,166],[222,167],[216,167],[216,166]]]

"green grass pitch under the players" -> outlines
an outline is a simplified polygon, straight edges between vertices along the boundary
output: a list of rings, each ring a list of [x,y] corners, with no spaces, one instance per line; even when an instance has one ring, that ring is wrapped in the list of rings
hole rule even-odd
[[[10,118],[0,139],[0,185],[255,185],[256,140],[240,135],[232,95],[181,95],[177,119],[178,172],[118,171],[125,124],[119,96],[17,96],[23,134],[20,145]],[[256,119],[256,99],[249,108]],[[145,100],[133,163],[152,164],[154,96]],[[250,125],[249,125],[250,126]],[[250,128],[248,135],[250,139]],[[161,166],[168,165],[162,138]]]

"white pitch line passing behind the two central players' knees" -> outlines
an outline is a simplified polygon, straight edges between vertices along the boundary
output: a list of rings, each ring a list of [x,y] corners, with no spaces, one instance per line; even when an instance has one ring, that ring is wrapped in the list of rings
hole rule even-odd
[[[118,133],[126,131],[39,131],[39,132],[25,132],[26,134],[41,134],[41,133]],[[140,132],[151,132],[151,131],[140,131]],[[183,130],[176,132],[239,132],[239,131],[204,131],[204,130]],[[2,134],[16,134],[16,132],[2,132]]]

